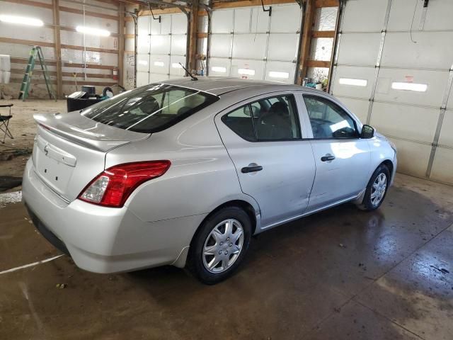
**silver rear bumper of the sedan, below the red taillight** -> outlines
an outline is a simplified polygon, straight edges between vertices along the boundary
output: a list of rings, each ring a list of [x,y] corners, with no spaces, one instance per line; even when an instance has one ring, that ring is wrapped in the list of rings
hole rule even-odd
[[[205,217],[144,222],[127,207],[105,208],[81,200],[67,203],[36,176],[31,160],[23,176],[23,202],[47,240],[70,254],[77,266],[95,273],[183,266],[180,263],[185,261],[178,257],[187,254],[183,249]]]

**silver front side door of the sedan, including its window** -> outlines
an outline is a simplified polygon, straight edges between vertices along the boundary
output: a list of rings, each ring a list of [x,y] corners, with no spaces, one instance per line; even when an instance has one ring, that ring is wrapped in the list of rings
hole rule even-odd
[[[351,118],[338,103],[321,95],[304,94],[301,97],[301,115],[307,129],[310,130],[309,137],[316,164],[316,176],[308,210],[316,210],[357,196],[366,187],[371,154],[367,140],[360,139],[357,131],[354,137],[333,137],[342,135],[342,132],[347,136],[348,133],[352,133],[348,130],[348,124],[341,120],[331,121],[332,119],[328,117],[321,117],[318,112],[320,110],[307,106],[304,98],[319,98],[320,103],[331,104],[331,108],[341,111],[342,115],[348,115],[349,125],[354,123],[357,130],[355,118]]]

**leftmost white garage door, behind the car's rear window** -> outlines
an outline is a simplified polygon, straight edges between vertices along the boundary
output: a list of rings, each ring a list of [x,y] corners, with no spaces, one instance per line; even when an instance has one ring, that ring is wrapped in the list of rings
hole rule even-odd
[[[161,22],[139,16],[137,23],[137,86],[183,77],[187,46],[187,16],[162,14]]]

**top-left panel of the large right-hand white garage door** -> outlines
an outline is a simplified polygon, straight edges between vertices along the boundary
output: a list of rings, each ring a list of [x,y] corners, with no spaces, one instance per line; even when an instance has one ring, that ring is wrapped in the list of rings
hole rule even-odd
[[[345,7],[342,30],[345,32],[380,31],[384,25],[387,1],[348,1]],[[384,4],[383,4],[384,3]]]

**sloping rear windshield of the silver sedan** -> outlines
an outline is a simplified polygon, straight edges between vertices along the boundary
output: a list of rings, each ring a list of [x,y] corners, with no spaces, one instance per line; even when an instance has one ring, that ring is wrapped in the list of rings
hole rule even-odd
[[[218,99],[185,87],[151,84],[101,101],[81,115],[115,128],[152,133],[175,125]]]

